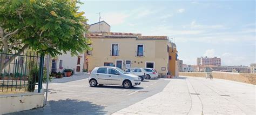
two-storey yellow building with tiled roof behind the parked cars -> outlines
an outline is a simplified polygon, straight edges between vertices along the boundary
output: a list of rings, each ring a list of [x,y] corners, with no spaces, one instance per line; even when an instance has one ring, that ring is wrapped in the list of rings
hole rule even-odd
[[[139,33],[89,33],[92,51],[87,51],[88,71],[97,66],[151,67],[165,76],[169,70],[170,42],[167,36],[142,36]],[[175,63],[173,63],[175,64]]]

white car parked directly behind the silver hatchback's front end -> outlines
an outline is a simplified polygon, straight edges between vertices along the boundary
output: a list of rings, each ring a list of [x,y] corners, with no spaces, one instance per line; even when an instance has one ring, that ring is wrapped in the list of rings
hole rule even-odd
[[[142,81],[146,77],[146,71],[142,68],[129,68],[129,69],[125,70],[125,72],[139,76],[142,79]]]

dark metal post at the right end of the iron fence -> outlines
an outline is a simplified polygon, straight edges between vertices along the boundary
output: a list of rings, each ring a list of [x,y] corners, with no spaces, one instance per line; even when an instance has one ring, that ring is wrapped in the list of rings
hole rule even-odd
[[[38,93],[41,92],[42,85],[43,85],[43,71],[44,71],[44,55],[41,55],[40,63],[39,63]]]

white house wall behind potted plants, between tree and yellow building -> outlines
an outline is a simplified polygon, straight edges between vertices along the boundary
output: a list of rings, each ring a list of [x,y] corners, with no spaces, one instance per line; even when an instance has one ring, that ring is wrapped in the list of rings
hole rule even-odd
[[[79,65],[77,64],[78,56],[80,57]],[[83,65],[84,65],[84,53],[79,54],[78,56],[72,57],[70,52],[67,52],[66,54],[58,56],[57,64],[56,64],[57,71],[63,71],[64,69],[72,69],[72,70],[74,70],[75,73],[82,73]],[[63,62],[62,62],[63,69],[62,70],[59,69],[60,60],[63,60]],[[80,66],[80,72],[76,71],[77,66]]]

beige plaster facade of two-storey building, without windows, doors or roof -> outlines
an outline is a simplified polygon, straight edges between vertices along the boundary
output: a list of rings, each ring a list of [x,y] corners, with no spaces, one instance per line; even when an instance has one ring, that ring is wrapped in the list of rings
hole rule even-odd
[[[158,73],[168,71],[167,39],[136,39],[136,38],[91,38],[92,55],[88,55],[89,71],[94,67],[104,66],[104,63],[114,63],[123,60],[122,69],[125,70],[125,60],[131,60],[131,67],[146,67],[146,62],[154,62],[154,69]],[[111,56],[112,44],[118,44],[119,56]],[[137,45],[143,44],[144,56],[137,57]],[[165,70],[161,68],[165,67]]]

